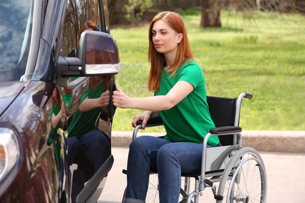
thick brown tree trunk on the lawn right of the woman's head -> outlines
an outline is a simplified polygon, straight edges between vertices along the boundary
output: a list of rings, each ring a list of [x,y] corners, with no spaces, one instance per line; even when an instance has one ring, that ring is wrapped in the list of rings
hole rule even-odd
[[[201,0],[200,27],[221,27],[220,5],[214,0]]]

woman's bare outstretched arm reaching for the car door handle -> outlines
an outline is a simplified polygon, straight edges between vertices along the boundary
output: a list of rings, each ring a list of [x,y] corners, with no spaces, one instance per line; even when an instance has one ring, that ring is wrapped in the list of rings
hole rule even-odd
[[[163,111],[176,106],[194,90],[194,86],[186,81],[178,81],[166,95],[142,98],[131,98],[118,87],[116,89],[117,91],[114,91],[112,96],[113,105],[116,107],[146,111]]]

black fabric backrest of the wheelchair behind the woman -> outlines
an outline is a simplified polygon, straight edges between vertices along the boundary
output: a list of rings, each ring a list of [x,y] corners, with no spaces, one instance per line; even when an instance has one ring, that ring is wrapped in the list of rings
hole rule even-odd
[[[234,126],[237,98],[207,96],[209,113],[216,127]],[[233,145],[233,135],[219,136],[223,146]]]

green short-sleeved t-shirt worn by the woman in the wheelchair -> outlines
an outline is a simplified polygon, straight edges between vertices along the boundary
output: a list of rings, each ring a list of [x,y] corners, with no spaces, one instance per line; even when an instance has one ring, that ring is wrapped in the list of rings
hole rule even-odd
[[[170,110],[159,111],[167,132],[164,139],[172,142],[202,143],[205,135],[215,127],[206,102],[205,80],[200,66],[190,61],[180,66],[176,74],[163,70],[160,88],[157,95],[166,95],[178,81],[186,81],[194,86],[194,90]],[[217,136],[208,139],[208,145],[219,144]]]

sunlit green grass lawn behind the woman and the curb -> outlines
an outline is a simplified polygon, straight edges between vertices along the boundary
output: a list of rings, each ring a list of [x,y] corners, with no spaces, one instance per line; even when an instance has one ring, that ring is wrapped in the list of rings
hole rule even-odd
[[[253,99],[242,103],[244,130],[305,130],[304,17],[226,9],[221,13],[222,28],[199,28],[200,14],[185,13],[189,15],[182,17],[208,95],[252,93]],[[112,29],[111,35],[123,64],[116,76],[120,89],[131,97],[153,95],[147,89],[148,25]],[[132,119],[141,112],[117,109],[113,130],[132,131]]]

